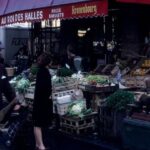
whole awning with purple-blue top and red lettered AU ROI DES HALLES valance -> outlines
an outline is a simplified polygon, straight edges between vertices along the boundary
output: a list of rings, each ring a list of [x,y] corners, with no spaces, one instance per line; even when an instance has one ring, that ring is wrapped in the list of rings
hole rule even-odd
[[[15,1],[18,2],[17,5]],[[1,10],[0,5],[0,25],[108,14],[107,0],[0,0],[0,4],[1,2],[5,9]]]

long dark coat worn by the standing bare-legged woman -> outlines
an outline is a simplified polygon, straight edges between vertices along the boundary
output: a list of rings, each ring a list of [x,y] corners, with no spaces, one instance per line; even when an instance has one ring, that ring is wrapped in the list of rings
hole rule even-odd
[[[47,127],[52,117],[51,76],[47,68],[41,67],[37,73],[33,103],[33,123],[36,127]]]

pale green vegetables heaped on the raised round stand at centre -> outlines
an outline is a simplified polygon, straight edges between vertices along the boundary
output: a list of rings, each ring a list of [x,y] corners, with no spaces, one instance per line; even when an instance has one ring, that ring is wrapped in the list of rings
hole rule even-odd
[[[89,75],[86,77],[86,80],[90,84],[108,84],[108,78],[101,75]]]

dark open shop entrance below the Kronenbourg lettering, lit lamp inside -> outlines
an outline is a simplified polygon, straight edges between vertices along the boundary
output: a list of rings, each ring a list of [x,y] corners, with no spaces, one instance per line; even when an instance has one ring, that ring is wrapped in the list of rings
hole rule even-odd
[[[62,49],[66,51],[73,43],[74,53],[83,58],[86,69],[94,69],[99,59],[105,64],[103,25],[102,17],[62,21]]]

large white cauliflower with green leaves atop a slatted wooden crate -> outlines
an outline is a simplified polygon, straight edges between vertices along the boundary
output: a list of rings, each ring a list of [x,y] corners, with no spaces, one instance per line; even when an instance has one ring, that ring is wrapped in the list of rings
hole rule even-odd
[[[76,117],[84,117],[86,114],[91,113],[91,109],[86,109],[85,101],[77,100],[71,103],[68,106],[67,115],[76,116]]]

